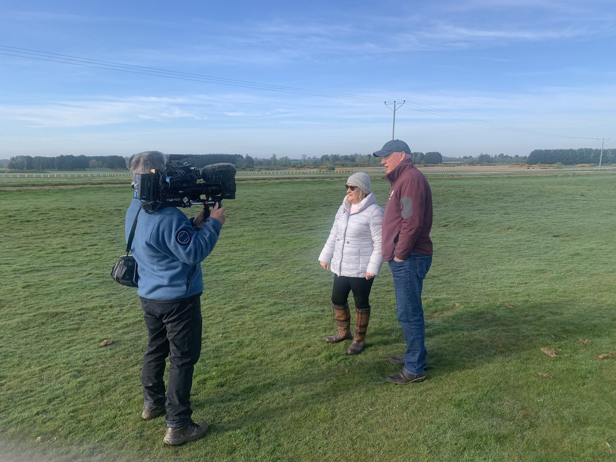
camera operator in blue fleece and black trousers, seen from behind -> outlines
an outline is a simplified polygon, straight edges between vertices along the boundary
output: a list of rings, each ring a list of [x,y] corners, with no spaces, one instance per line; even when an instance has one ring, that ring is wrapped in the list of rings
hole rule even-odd
[[[142,152],[131,162],[131,177],[164,170],[165,158],[158,151]],[[142,206],[133,199],[126,212],[126,238]],[[205,217],[205,209],[188,219],[176,207],[139,213],[131,253],[139,265],[139,294],[148,330],[141,383],[144,411],[150,420],[166,412],[163,442],[179,445],[202,437],[205,422],[193,422],[190,389],[195,363],[201,354],[201,261],[216,245],[225,222],[225,207],[217,204]],[[169,357],[165,390],[164,369]]]

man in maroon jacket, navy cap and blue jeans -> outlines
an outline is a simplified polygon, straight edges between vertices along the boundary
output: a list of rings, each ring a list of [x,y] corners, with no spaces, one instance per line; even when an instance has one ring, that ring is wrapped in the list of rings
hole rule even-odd
[[[402,370],[385,379],[395,384],[422,382],[426,379],[426,333],[421,290],[432,264],[432,192],[405,142],[388,141],[373,155],[381,158],[383,178],[391,183],[381,252],[394,277],[396,314],[407,341],[404,356],[388,359],[403,365]]]

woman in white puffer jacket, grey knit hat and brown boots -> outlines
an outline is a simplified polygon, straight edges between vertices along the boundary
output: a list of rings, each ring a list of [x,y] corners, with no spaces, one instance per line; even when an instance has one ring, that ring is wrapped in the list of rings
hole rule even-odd
[[[357,172],[346,183],[347,195],[336,213],[330,237],[318,257],[321,266],[334,274],[331,302],[338,333],[328,343],[351,338],[349,293],[355,300],[355,335],[347,354],[360,354],[366,343],[370,320],[370,290],[383,265],[381,225],[383,209],[370,192],[370,177]]]

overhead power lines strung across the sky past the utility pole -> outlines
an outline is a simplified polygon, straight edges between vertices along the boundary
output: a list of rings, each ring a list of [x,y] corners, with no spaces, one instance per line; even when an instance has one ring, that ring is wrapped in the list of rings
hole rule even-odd
[[[196,82],[204,82],[204,83],[214,83],[214,84],[219,84],[219,85],[251,88],[251,89],[266,90],[266,91],[293,93],[293,94],[310,95],[310,96],[320,96],[320,97],[336,98],[336,99],[360,100],[360,101],[368,101],[368,102],[372,102],[372,101],[381,102],[384,100],[383,97],[372,97],[372,96],[366,96],[366,95],[354,95],[354,94],[347,94],[347,93],[310,90],[306,88],[287,87],[287,86],[264,84],[264,83],[257,83],[257,82],[244,81],[244,80],[227,79],[227,78],[221,78],[221,77],[215,77],[215,76],[200,75],[200,74],[193,74],[193,73],[180,72],[180,71],[172,71],[172,70],[166,70],[166,69],[160,69],[160,68],[137,66],[137,65],[131,65],[131,64],[126,64],[126,63],[116,63],[112,61],[89,59],[89,58],[83,58],[83,57],[78,57],[78,56],[73,56],[73,55],[63,55],[63,54],[44,52],[44,51],[38,51],[38,50],[32,50],[32,49],[26,49],[26,48],[18,48],[18,47],[12,47],[12,46],[5,46],[5,45],[0,45],[0,54],[6,55],[6,56],[18,57],[18,58],[41,60],[41,61],[47,61],[47,62],[56,62],[56,63],[97,68],[97,69],[103,69],[103,70],[120,71],[120,72],[132,73],[132,74],[150,75],[150,76],[155,76],[155,77],[172,78],[172,79],[180,79],[180,80],[188,80],[188,81],[196,81]],[[404,101],[408,105],[405,108],[407,110],[415,110],[415,111],[419,111],[423,113],[436,115],[439,117],[450,118],[450,119],[458,120],[461,122],[482,125],[482,126],[486,126],[489,128],[499,129],[499,130],[513,131],[513,132],[537,135],[537,136],[549,136],[549,137],[556,137],[556,138],[586,139],[586,140],[596,139],[595,137],[558,135],[558,134],[538,132],[538,131],[524,129],[524,128],[517,128],[517,127],[507,126],[507,125],[498,124],[498,123],[494,123],[494,122],[490,122],[486,120],[464,116],[464,115],[461,115],[455,112],[437,109],[437,108],[424,105],[421,103],[411,102],[409,100],[404,100]],[[395,110],[394,110],[394,127],[395,127]],[[393,131],[392,131],[392,136],[393,136]]]

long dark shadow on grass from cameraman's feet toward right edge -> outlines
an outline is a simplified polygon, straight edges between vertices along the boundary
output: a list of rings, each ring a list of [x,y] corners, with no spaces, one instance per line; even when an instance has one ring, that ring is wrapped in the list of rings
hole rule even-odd
[[[530,349],[539,352],[540,347],[559,339],[577,342],[585,333],[604,331],[606,322],[604,315],[591,317],[573,303],[558,301],[516,309],[455,310],[428,317],[431,379],[519,356]],[[267,424],[285,413],[302,415],[317,406],[335,408],[354,387],[388,392],[392,386],[384,381],[384,375],[398,367],[388,363],[387,356],[402,354],[405,344],[400,326],[389,316],[376,324],[368,328],[367,347],[357,356],[345,353],[350,341],[326,344],[317,335],[289,342],[285,354],[268,352],[269,342],[255,339],[251,348],[259,354],[252,352],[250,356],[261,360],[242,361],[245,352],[238,352],[238,369],[227,370],[219,392],[195,399],[195,408],[228,410],[212,429],[224,434]]]

